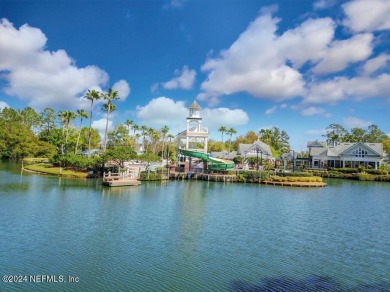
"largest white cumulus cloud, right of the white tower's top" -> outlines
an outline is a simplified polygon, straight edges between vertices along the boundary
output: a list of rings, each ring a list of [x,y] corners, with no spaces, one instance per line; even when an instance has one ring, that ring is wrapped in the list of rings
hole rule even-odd
[[[304,95],[298,69],[321,58],[333,39],[334,22],[308,19],[280,36],[278,22],[269,13],[261,14],[228,49],[207,59],[202,70],[208,77],[198,99],[215,104],[220,96],[237,92],[276,101]]]

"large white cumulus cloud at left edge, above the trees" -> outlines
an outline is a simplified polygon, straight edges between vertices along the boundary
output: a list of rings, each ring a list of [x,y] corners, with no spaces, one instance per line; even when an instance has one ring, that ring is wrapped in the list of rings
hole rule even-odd
[[[35,108],[77,107],[89,88],[107,83],[108,75],[96,66],[78,68],[65,51],[46,50],[47,38],[37,28],[15,28],[0,20],[0,71],[7,95]]]

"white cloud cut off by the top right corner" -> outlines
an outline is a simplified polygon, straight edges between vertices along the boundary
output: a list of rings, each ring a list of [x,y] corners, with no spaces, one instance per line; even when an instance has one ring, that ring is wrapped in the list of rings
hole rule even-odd
[[[354,32],[390,29],[389,0],[353,0],[342,7],[344,25]]]

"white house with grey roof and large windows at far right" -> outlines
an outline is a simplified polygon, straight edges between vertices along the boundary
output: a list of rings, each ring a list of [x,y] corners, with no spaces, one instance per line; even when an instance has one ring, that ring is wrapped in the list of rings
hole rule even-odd
[[[378,169],[385,158],[382,143],[327,143],[310,141],[309,167],[311,168],[365,168]]]

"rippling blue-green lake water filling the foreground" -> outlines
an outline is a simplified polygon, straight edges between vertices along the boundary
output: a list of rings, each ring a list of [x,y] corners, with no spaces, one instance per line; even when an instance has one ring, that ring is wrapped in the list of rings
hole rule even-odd
[[[0,290],[390,291],[390,184],[328,184],[110,189],[1,163],[1,276],[32,277]]]

